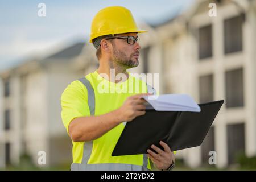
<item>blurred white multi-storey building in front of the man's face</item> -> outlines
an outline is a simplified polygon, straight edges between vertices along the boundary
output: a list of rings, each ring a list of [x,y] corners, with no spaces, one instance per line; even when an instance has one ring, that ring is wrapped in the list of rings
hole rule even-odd
[[[177,152],[191,167],[208,164],[209,151],[217,152],[218,167],[236,163],[243,152],[256,154],[255,23],[255,1],[195,1],[151,25],[154,35],[142,35],[143,72],[161,73],[160,93],[225,100],[202,146]]]

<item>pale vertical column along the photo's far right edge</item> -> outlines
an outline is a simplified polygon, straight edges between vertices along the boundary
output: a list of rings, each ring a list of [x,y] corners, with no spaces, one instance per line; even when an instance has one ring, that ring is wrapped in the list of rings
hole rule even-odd
[[[245,93],[245,151],[247,156],[256,154],[256,117],[255,117],[255,21],[256,14],[251,8],[246,13],[243,26],[243,51],[245,66],[243,71]]]

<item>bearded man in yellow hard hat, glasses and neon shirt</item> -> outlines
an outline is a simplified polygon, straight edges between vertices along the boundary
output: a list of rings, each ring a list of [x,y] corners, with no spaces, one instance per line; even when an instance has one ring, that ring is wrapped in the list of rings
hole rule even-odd
[[[90,42],[97,49],[99,67],[73,81],[61,96],[61,117],[73,141],[71,170],[171,169],[174,154],[164,142],[160,142],[164,150],[152,145],[147,155],[111,155],[125,127],[124,122],[145,114],[146,101],[141,97],[147,94],[143,88],[148,85],[131,76],[126,69],[138,66],[141,47],[137,33],[146,31],[139,30],[130,11],[120,6],[99,11],[91,29]],[[121,73],[126,80],[109,79],[112,69],[114,76]],[[133,88],[134,82],[140,83],[141,94],[135,94],[138,88]],[[102,83],[108,89],[133,88],[133,92],[102,93]]]

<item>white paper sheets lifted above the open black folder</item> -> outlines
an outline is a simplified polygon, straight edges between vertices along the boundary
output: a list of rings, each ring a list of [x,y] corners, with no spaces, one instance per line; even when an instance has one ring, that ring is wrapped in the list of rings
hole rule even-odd
[[[143,96],[148,104],[146,109],[155,109],[157,111],[191,111],[200,112],[199,105],[188,94],[163,94],[155,97]]]

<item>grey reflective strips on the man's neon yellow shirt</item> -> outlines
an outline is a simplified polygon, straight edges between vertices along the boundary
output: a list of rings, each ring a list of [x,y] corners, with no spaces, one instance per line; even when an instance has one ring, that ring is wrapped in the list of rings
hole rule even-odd
[[[90,81],[87,78],[80,78],[79,79],[82,84],[87,89],[88,92],[88,106],[90,109],[90,115],[95,114],[95,94]],[[147,84],[147,92],[155,94],[155,89],[152,86]],[[147,163],[148,158],[147,155],[143,155],[143,165],[133,165],[133,164],[121,164],[121,163],[102,163],[102,164],[88,164],[90,159],[90,155],[92,154],[93,148],[93,141],[91,142],[84,142],[84,151],[82,154],[82,162],[79,163],[72,163],[71,170],[72,171],[101,171],[101,170],[109,170],[109,171],[147,171]]]

